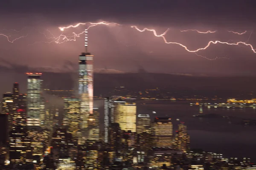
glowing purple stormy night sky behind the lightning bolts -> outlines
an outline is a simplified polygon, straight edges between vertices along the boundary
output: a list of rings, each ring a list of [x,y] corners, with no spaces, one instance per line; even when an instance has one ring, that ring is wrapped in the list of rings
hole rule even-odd
[[[62,44],[46,43],[52,40],[46,37],[51,37],[50,32],[55,37],[78,34],[87,27],[62,32],[59,26],[105,20],[122,26],[89,29],[89,51],[95,56],[96,71],[255,76],[256,53],[249,46],[212,44],[197,52],[206,59],[180,45],[164,43],[151,31],[131,28],[156,29],[157,34],[169,28],[166,40],[182,43],[190,50],[203,48],[211,40],[242,41],[256,48],[255,6],[254,0],[4,0],[0,5],[0,34],[11,36],[9,40],[26,37],[11,43],[0,35],[0,71],[74,71],[78,55],[84,51],[83,35]],[[217,32],[180,31],[187,29]],[[228,31],[247,32],[239,35]]]

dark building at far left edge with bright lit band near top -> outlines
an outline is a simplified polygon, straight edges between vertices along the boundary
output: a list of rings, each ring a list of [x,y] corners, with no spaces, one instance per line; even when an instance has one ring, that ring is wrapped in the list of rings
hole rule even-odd
[[[2,114],[6,114],[8,116],[8,129],[11,130],[14,117],[13,94],[11,93],[3,94]]]

